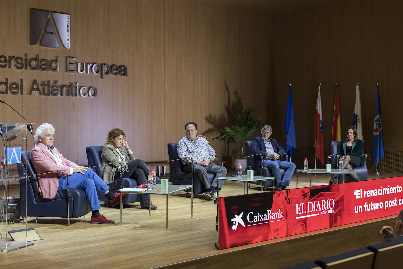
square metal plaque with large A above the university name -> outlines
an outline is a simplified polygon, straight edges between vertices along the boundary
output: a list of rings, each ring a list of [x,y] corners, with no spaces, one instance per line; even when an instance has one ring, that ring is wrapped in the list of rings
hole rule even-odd
[[[31,8],[29,10],[29,44],[70,49],[70,15]]]

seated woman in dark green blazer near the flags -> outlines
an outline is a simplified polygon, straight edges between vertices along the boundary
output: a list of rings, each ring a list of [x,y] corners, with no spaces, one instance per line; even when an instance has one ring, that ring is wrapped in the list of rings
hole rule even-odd
[[[343,169],[353,170],[354,167],[364,166],[365,161],[362,158],[362,149],[364,148],[362,140],[357,139],[357,130],[354,126],[347,129],[347,137],[337,148],[337,155],[343,159]],[[349,174],[355,181],[359,181],[357,174]]]

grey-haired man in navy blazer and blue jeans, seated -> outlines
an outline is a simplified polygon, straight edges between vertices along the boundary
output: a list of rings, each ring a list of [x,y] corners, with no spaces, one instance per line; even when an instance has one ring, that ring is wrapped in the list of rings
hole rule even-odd
[[[277,144],[277,140],[270,138],[272,127],[264,125],[262,127],[262,136],[253,139],[253,154],[263,154],[263,167],[267,167],[272,171],[272,175],[276,180],[276,190],[285,190],[290,184],[291,176],[295,171],[295,164],[286,161],[280,161],[279,158],[285,154],[284,149]],[[261,157],[255,157],[255,170],[261,167]],[[284,169],[285,173],[281,179],[280,169]]]

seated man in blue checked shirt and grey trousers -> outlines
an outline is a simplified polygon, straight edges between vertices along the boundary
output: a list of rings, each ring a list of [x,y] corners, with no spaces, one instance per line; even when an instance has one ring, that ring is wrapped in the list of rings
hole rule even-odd
[[[205,138],[197,136],[196,123],[186,123],[185,130],[186,136],[179,141],[177,151],[180,158],[192,157],[193,163],[191,158],[183,159],[183,170],[191,173],[193,165],[195,173],[199,175],[200,181],[202,181],[206,189],[203,193],[204,198],[208,201],[214,200],[214,192],[218,192],[224,184],[223,180],[221,180],[217,188],[217,178],[225,177],[227,169],[213,164],[216,152]],[[207,173],[216,173],[211,184]]]

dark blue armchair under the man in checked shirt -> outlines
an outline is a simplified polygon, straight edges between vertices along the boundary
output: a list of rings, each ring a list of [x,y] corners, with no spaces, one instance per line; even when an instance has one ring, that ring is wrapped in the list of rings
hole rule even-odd
[[[168,156],[170,161],[179,159],[177,146],[178,143],[168,144]],[[208,173],[210,183],[213,182],[215,176],[215,174]],[[183,164],[181,160],[172,161],[169,163],[169,181],[172,182],[172,184],[192,185],[192,173],[186,173],[183,171]],[[195,173],[193,181],[193,193],[203,193],[204,190],[205,189],[202,181],[200,181],[199,176]]]

